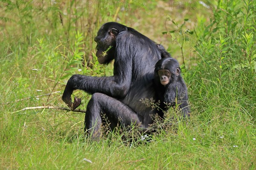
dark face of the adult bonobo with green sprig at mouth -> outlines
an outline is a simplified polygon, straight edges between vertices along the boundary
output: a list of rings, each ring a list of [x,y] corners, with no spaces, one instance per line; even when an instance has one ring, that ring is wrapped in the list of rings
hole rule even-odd
[[[114,59],[116,48],[116,36],[119,31],[114,28],[115,24],[104,24],[98,31],[94,41],[97,42],[96,57],[100,64],[108,64]]]

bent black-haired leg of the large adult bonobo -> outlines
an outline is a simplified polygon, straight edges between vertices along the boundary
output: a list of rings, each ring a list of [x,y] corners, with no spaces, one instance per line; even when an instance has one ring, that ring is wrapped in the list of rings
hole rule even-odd
[[[88,102],[84,120],[84,131],[89,131],[94,140],[99,139],[103,115],[111,122],[120,122],[124,126],[141,125],[141,119],[131,108],[117,99],[101,93],[93,94]]]

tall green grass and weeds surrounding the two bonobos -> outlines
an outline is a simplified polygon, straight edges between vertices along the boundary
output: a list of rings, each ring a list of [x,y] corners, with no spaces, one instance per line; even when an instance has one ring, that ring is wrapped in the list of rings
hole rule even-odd
[[[174,1],[129,2],[125,10],[86,1],[44,1],[40,9],[0,2],[0,169],[256,169],[256,3],[209,1],[215,8],[194,9]],[[189,121],[159,127],[147,141],[133,129],[92,142],[83,136],[84,114],[21,111],[64,107],[61,95],[73,74],[113,74],[113,64],[99,65],[94,56],[93,36],[108,21],[161,42],[178,59]],[[50,92],[49,99],[39,96]],[[74,96],[86,109],[90,95]]]

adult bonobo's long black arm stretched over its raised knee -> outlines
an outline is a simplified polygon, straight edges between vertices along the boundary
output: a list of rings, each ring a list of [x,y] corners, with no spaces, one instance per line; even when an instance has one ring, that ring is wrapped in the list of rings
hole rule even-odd
[[[118,42],[116,42],[118,43]],[[120,46],[120,45],[119,45]],[[120,48],[116,46],[116,57],[114,62],[114,75],[111,77],[90,77],[75,74],[67,82],[62,100],[72,109],[77,108],[81,99],[75,97],[71,102],[71,94],[74,90],[84,90],[87,93],[102,93],[117,99],[122,99],[129,91],[132,79],[132,56],[127,54],[129,47]],[[118,48],[119,47],[119,48]],[[125,49],[124,51],[122,51]]]

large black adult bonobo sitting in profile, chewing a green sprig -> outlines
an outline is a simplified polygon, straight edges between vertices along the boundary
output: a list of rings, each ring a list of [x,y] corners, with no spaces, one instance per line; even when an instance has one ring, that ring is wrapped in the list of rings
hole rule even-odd
[[[67,82],[62,99],[73,110],[81,99],[71,102],[73,90],[93,94],[85,114],[85,128],[99,139],[101,125],[108,119],[111,129],[120,122],[148,127],[156,114],[140,99],[157,99],[152,79],[155,63],[161,58],[157,44],[133,28],[119,23],[105,23],[98,31],[96,56],[101,64],[115,59],[113,76],[73,75]]]

